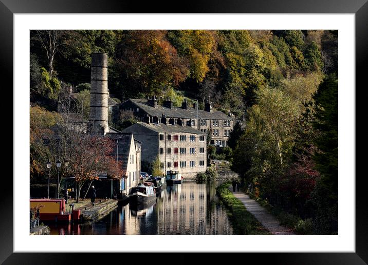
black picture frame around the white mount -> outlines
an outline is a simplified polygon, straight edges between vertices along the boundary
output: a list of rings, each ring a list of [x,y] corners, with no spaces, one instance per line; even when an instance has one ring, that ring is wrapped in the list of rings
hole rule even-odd
[[[367,47],[368,47],[368,3],[367,0],[212,0],[193,3],[177,2],[158,3],[151,1],[141,3],[138,1],[119,0],[0,0],[0,75],[2,82],[9,81],[7,87],[13,87],[13,14],[14,13],[354,13],[356,19],[356,92],[366,88],[364,77],[367,73]],[[3,84],[2,84],[3,85]],[[3,89],[5,86],[3,86]],[[13,102],[12,93],[9,93],[10,102]],[[356,99],[358,99],[356,97]],[[358,104],[357,104],[358,105]],[[358,113],[358,112],[357,112]],[[13,121],[7,117],[9,124]],[[14,135],[14,132],[13,132]],[[358,135],[357,135],[358,136]],[[13,141],[15,141],[13,137]],[[358,148],[363,148],[360,146]],[[10,157],[10,156],[9,156]],[[360,161],[358,156],[356,160]],[[16,159],[16,158],[15,158]],[[362,159],[362,158],[360,158]],[[362,163],[360,163],[362,164]],[[13,161],[14,165],[14,161]],[[242,253],[242,260],[256,259],[263,263],[270,260],[281,264],[366,264],[368,262],[368,207],[365,198],[365,175],[356,174],[356,252],[355,253]],[[13,253],[13,179],[3,177],[2,199],[0,209],[1,218],[0,235],[0,262],[4,264],[65,264],[95,263],[101,253]],[[6,188],[4,188],[6,187]],[[4,215],[5,213],[5,215]],[[143,250],[144,251],[144,250]],[[42,252],[42,251],[41,251]],[[109,255],[109,263],[115,258],[121,258],[117,253],[104,253]],[[124,254],[125,255],[125,254]],[[162,255],[162,254],[160,254]],[[212,253],[216,258],[222,253]],[[227,254],[229,255],[229,254]],[[126,258],[134,259],[136,254]],[[172,256],[175,260],[185,261],[188,256],[178,253]],[[237,259],[237,258],[236,258]],[[71,262],[70,262],[71,261]],[[187,263],[187,262],[186,262]]]

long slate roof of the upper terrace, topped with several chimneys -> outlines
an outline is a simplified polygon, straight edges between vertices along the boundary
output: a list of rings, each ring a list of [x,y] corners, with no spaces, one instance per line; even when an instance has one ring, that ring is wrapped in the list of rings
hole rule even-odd
[[[157,108],[151,106],[147,100],[141,99],[128,99],[126,101],[131,101],[137,107],[141,108],[145,112],[149,113],[151,116],[161,117],[162,113],[166,117],[170,118],[185,118],[185,119],[197,119],[197,109],[189,107],[187,109],[183,109],[181,107],[173,107],[167,108],[160,105],[157,105]],[[126,101],[120,104],[124,104]],[[206,119],[206,120],[233,120],[233,118],[229,117],[222,111],[212,111],[208,112],[205,110],[198,109],[198,119]]]

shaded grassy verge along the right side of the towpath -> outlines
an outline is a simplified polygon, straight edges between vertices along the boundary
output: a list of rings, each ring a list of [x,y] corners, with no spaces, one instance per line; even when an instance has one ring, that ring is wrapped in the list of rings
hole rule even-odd
[[[251,193],[248,193],[248,196],[260,203],[261,206],[264,206],[270,214],[280,221],[281,225],[292,229],[299,235],[313,235],[313,225],[311,219],[303,220],[299,216],[293,216],[292,214],[282,210],[281,207],[270,205],[267,200],[255,198]]]

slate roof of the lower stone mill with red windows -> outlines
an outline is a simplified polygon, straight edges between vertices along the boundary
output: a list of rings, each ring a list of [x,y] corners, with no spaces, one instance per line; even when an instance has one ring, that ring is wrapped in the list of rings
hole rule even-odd
[[[134,134],[134,127],[136,126],[143,126],[150,130],[156,131],[156,133],[189,133],[189,134],[196,134],[196,135],[207,135],[203,131],[194,129],[190,126],[180,126],[180,125],[165,125],[163,123],[145,123],[145,122],[137,122],[123,130],[124,132],[130,131]]]

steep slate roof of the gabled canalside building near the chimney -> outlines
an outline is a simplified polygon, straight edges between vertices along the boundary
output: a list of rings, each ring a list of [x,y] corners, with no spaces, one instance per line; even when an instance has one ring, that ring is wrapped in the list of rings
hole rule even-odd
[[[133,134],[131,133],[107,133],[105,137],[114,141],[114,147],[112,150],[112,156],[116,159],[116,153],[118,152],[118,161],[123,162],[123,169],[127,168],[129,162],[129,151]],[[117,145],[117,140],[119,143]]]

